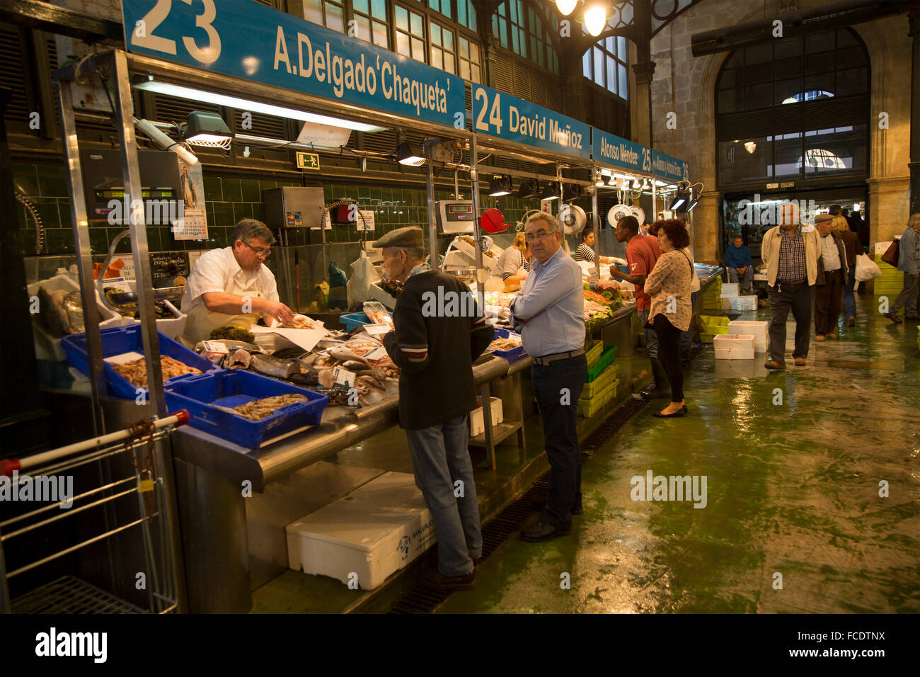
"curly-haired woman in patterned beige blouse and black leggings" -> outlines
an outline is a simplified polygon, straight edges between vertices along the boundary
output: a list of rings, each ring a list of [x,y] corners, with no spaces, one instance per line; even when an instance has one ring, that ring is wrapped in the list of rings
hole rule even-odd
[[[690,244],[683,221],[656,221],[651,229],[658,235],[661,257],[645,280],[645,291],[651,297],[649,324],[658,335],[658,358],[671,381],[671,403],[655,415],[673,418],[687,413],[679,341],[681,332],[690,328],[693,316],[690,283],[694,270],[681,251]]]

